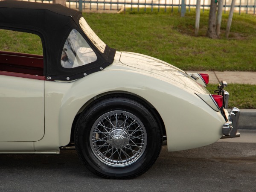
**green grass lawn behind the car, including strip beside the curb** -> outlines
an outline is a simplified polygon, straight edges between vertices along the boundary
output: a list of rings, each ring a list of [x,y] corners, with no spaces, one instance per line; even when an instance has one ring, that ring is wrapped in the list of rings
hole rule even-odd
[[[159,58],[182,70],[256,71],[256,15],[237,13],[233,16],[230,38],[225,38],[228,14],[223,14],[221,38],[209,39],[209,11],[201,12],[199,36],[194,35],[195,10],[180,17],[163,9],[160,12],[121,14],[84,13],[96,34],[118,51],[139,52]],[[29,34],[11,34],[0,30],[0,50],[42,54],[40,38]],[[20,37],[29,41],[18,41]],[[12,42],[12,43],[10,43]],[[209,84],[213,93],[216,85]],[[229,84],[230,107],[256,108],[256,86]]]

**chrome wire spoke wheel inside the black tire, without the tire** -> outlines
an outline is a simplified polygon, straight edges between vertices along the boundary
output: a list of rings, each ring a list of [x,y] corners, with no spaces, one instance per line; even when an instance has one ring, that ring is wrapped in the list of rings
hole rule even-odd
[[[147,135],[143,123],[131,113],[111,111],[100,116],[90,131],[93,154],[108,166],[128,166],[145,151]]]

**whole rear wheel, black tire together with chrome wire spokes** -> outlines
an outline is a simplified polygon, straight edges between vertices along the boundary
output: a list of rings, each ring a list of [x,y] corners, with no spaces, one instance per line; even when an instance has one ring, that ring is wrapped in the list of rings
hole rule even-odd
[[[156,114],[144,105],[122,96],[107,97],[81,113],[74,141],[91,172],[128,179],[154,164],[162,148],[162,128]]]

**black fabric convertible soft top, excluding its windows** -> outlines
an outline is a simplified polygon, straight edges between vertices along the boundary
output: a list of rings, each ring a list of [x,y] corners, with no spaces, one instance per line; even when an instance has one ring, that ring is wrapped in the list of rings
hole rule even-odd
[[[79,25],[81,12],[60,4],[34,3],[16,0],[0,1],[0,29],[37,34],[44,52],[44,76],[47,79],[73,80],[102,70],[113,62],[116,50],[106,46],[100,52]],[[91,64],[66,69],[61,66],[61,53],[72,29],[84,36],[93,48],[97,60]]]

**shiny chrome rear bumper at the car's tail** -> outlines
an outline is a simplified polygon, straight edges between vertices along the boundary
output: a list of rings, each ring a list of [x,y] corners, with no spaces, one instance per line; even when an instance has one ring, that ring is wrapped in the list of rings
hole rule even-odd
[[[233,107],[227,117],[228,121],[222,127],[222,133],[225,137],[221,137],[221,139],[240,137],[240,134],[237,134],[239,116],[240,110]]]

